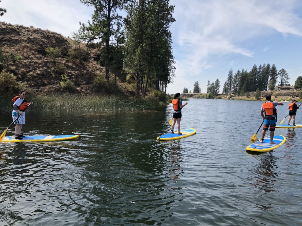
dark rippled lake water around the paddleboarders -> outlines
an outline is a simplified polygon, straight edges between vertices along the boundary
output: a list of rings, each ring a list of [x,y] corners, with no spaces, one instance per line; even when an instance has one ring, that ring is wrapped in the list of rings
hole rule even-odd
[[[172,105],[28,112],[23,134],[79,139],[0,143],[0,225],[302,225],[302,128],[277,128],[287,141],[274,151],[246,152],[261,104],[189,99],[181,127],[197,133],[163,142],[156,137],[170,131]],[[10,123],[0,113],[1,133]]]

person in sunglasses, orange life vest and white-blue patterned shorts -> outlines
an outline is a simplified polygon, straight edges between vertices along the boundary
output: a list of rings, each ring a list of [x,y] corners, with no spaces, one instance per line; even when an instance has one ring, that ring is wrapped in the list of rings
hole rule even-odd
[[[18,140],[22,140],[22,137],[25,137],[23,135],[21,135],[21,129],[22,129],[22,125],[25,124],[25,109],[28,107],[29,104],[33,104],[33,102],[27,102],[26,99],[26,93],[25,91],[21,90],[19,92],[19,96],[15,96],[11,101],[14,102],[13,104],[13,112],[12,112],[12,117],[13,117],[13,121],[18,118],[14,124],[15,126],[15,139]],[[20,116],[19,116],[20,115]]]

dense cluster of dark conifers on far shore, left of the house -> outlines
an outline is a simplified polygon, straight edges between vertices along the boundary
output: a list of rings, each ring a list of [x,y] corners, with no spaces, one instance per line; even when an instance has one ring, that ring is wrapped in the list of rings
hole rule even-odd
[[[236,71],[235,74],[231,68],[223,85],[222,93],[233,92],[236,96],[244,96],[247,92],[253,92],[257,89],[259,91],[274,90],[278,80],[279,86],[289,86],[289,79],[288,73],[283,68],[278,71],[275,64],[272,66],[260,64],[259,67],[254,64],[251,71],[248,72],[243,68],[241,71]]]

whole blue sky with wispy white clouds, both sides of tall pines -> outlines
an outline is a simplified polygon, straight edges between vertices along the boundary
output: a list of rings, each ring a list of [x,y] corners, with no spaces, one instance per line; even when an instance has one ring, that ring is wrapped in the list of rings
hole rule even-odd
[[[223,83],[230,68],[251,70],[253,64],[275,64],[291,77],[302,74],[302,1],[299,0],[170,0],[176,22],[171,26],[176,77],[168,93],[201,92],[207,80]],[[40,27],[71,36],[93,8],[79,0],[2,0],[7,13],[0,21]]]

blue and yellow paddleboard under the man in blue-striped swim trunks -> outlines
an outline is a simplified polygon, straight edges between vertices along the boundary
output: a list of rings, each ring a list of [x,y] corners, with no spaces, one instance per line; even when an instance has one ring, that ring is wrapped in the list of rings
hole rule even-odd
[[[282,135],[274,135],[273,141],[275,142],[275,144],[270,143],[271,142],[270,136],[265,137],[263,140],[263,143],[260,143],[260,141],[252,143],[246,147],[246,150],[254,151],[254,152],[268,152],[268,151],[278,148],[282,144],[284,144],[286,141],[286,138]]]

